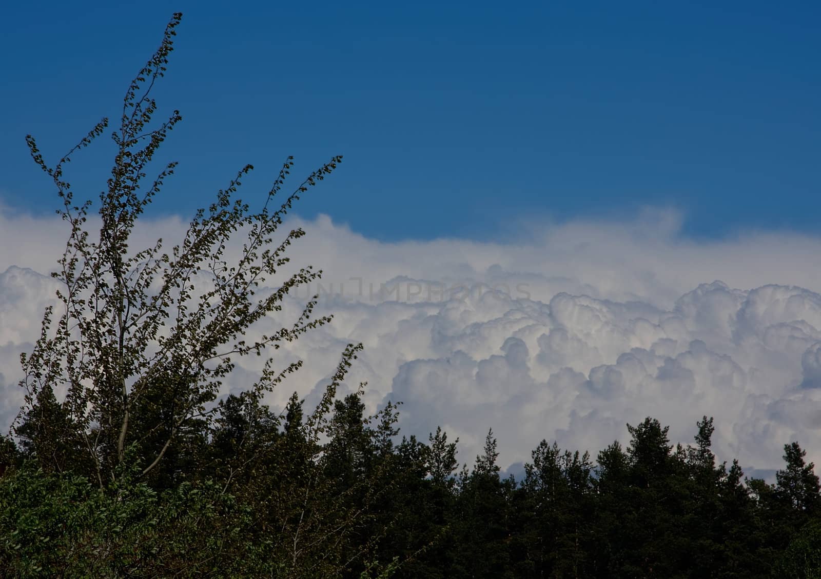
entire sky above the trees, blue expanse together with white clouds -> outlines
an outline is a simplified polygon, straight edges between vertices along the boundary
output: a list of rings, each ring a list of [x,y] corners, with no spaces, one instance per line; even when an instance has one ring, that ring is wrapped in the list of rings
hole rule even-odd
[[[320,307],[336,317],[282,352],[317,362],[274,407],[362,340],[351,384],[369,384],[369,408],[403,401],[403,432],[442,424],[468,462],[477,425],[508,465],[543,437],[603,448],[648,415],[688,442],[714,414],[722,459],[779,467],[797,439],[821,463],[808,387],[821,380],[821,4],[6,4],[0,422],[53,296],[35,272],[67,235],[25,134],[54,162],[117,117],[182,11],[155,93],[182,112],[161,155],[181,164],[133,247],[176,241],[173,216],[245,163],[253,202],[288,155],[295,178],[345,156],[296,207],[309,235],[289,248],[323,269]],[[71,162],[80,195],[99,192],[111,153],[103,138]],[[411,297],[463,283],[502,294]],[[247,364],[228,386],[259,372]]]

